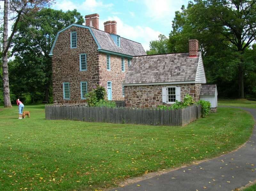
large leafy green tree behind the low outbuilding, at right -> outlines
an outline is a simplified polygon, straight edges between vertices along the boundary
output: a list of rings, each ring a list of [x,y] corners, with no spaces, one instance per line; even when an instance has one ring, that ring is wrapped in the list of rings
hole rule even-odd
[[[237,85],[239,98],[244,98],[244,76],[252,67],[244,55],[255,40],[256,1],[195,2],[176,12],[168,51],[188,51],[188,39],[198,39],[206,73],[211,72],[210,81],[223,86],[220,80],[224,79],[227,88],[232,87],[233,90]]]

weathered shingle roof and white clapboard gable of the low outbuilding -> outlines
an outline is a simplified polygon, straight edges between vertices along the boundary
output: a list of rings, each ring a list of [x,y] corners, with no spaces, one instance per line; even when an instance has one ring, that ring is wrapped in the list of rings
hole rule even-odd
[[[200,52],[144,55],[132,58],[124,85],[206,83]]]

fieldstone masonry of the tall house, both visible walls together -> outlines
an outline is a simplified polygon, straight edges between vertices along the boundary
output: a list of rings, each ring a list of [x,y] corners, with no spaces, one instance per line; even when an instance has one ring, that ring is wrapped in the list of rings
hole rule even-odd
[[[70,48],[70,32],[77,33],[77,48]],[[59,34],[52,55],[52,84],[54,103],[84,102],[81,99],[80,82],[87,82],[88,92],[100,84],[107,90],[107,82],[112,82],[112,99],[124,100],[122,81],[128,70],[124,58],[125,71],[121,71],[121,57],[110,55],[110,71],[107,71],[106,54],[97,51],[89,29],[73,26]],[[80,71],[79,54],[86,53],[87,71]],[[63,82],[69,82],[70,99],[63,99]]]

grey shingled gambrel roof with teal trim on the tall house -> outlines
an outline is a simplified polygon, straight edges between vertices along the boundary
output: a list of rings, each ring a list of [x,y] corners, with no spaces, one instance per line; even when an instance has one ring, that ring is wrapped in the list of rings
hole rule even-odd
[[[61,32],[67,30],[68,28],[72,26],[77,26],[77,27],[83,27],[89,29],[89,31],[92,34],[93,39],[95,40],[97,46],[98,46],[98,51],[103,52],[103,53],[109,53],[113,55],[119,55],[119,56],[124,56],[127,58],[132,58],[133,56],[138,56],[138,55],[145,55],[146,52],[142,45],[138,42],[134,42],[132,40],[125,39],[123,37],[120,37],[119,35],[116,35],[120,38],[120,47],[116,45],[114,42],[113,38],[111,37],[111,34],[106,33],[104,31],[95,29],[90,26],[84,26],[84,25],[78,25],[78,24],[72,24],[69,25],[68,27],[60,30],[53,42],[51,51],[50,51],[50,56],[52,55],[53,48],[55,46],[55,43],[58,39],[58,36]],[[113,34],[112,34],[113,35]]]

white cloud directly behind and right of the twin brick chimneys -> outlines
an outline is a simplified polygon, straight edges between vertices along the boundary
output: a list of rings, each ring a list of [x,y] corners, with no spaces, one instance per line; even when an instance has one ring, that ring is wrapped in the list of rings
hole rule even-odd
[[[99,21],[100,30],[104,31],[103,22],[106,20],[115,20],[117,22],[117,25],[116,25],[117,34],[120,35],[121,37],[141,43],[145,50],[149,49],[149,42],[151,40],[156,40],[158,38],[158,35],[160,34],[159,31],[155,31],[148,26],[143,27],[143,26],[127,25],[123,23],[123,21],[116,16],[108,17],[107,19],[100,19]]]

